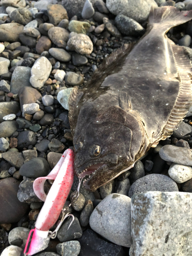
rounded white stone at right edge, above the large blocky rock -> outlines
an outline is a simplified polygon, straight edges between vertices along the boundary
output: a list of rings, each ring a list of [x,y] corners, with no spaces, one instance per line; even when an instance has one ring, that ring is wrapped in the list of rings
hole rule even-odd
[[[177,183],[184,183],[192,178],[190,166],[173,163],[168,169],[168,175]]]

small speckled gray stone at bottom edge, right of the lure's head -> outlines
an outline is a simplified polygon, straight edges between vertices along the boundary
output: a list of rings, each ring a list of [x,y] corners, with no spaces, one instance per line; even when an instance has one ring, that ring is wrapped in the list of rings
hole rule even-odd
[[[68,241],[56,246],[57,253],[62,256],[79,255],[81,246],[78,241]]]

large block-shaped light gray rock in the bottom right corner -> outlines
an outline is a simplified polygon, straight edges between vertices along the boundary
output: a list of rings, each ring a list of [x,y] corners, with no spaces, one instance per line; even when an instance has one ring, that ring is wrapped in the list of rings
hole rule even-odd
[[[192,254],[192,194],[147,192],[132,198],[130,256]]]

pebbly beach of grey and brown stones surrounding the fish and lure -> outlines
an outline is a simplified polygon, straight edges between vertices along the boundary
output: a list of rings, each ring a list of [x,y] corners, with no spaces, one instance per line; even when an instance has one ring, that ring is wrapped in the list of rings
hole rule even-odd
[[[86,86],[105,57],[137,42],[151,8],[161,6],[190,11],[192,0],[0,1],[1,256],[24,255],[43,205],[33,182],[73,149],[70,92]],[[192,60],[192,21],[167,36]],[[192,255],[191,148],[192,106],[173,135],[132,169],[94,192],[81,184],[68,209],[72,225],[68,218],[36,255]],[[52,184],[46,181],[46,193]],[[77,186],[75,177],[65,206]]]

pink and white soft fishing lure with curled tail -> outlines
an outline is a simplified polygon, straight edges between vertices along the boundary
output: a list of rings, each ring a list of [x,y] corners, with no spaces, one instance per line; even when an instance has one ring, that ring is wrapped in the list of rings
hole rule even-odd
[[[61,210],[70,193],[74,180],[74,153],[72,150],[66,150],[56,166],[46,177],[39,177],[33,183],[33,189],[36,196],[45,201],[42,206],[35,229],[29,233],[28,241],[24,250],[24,255],[33,255],[47,248],[49,244],[49,229],[56,223]],[[47,179],[55,180],[48,195],[44,191],[44,183]],[[33,235],[32,235],[33,232]],[[28,249],[30,237],[32,240]]]

